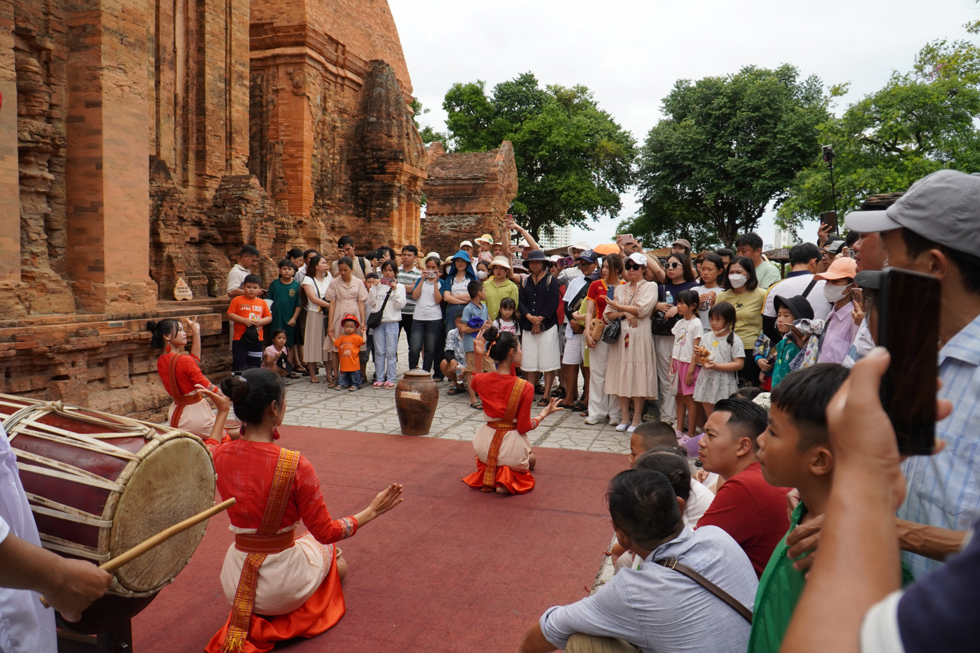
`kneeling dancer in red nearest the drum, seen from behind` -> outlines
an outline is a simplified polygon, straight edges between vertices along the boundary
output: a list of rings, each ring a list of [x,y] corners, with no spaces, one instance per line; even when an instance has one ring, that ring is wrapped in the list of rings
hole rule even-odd
[[[401,503],[402,486],[381,490],[354,516],[332,519],[313,465],[275,443],[286,411],[282,379],[253,368],[222,381],[221,390],[224,396],[201,392],[219,405],[216,433],[229,403],[242,423],[240,438],[212,448],[221,498],[235,498],[228,508],[235,542],[221,567],[231,615],[205,650],[257,653],[276,641],[315,637],[340,621],[347,563],[334,542]],[[300,520],[309,531],[297,537]]]

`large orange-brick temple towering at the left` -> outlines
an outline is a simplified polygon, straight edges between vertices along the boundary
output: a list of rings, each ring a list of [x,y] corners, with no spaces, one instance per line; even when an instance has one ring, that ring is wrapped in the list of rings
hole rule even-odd
[[[226,370],[243,244],[268,283],[294,246],[419,242],[385,0],[0,0],[0,92],[2,393],[151,416],[170,399],[146,320],[198,315]]]

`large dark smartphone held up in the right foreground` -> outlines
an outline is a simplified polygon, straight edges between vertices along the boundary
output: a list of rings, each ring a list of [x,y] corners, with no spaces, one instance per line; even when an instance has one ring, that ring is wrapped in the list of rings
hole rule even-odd
[[[936,447],[939,296],[936,277],[885,268],[878,345],[892,354],[892,361],[881,380],[881,404],[903,455],[930,455]]]

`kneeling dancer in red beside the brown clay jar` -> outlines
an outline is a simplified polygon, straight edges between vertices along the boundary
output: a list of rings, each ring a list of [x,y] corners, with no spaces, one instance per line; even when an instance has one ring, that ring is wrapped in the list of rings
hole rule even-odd
[[[489,351],[487,351],[489,350]],[[531,417],[534,387],[515,376],[520,367],[520,343],[513,333],[491,326],[480,331],[473,341],[475,369],[482,369],[488,352],[496,363],[493,372],[474,374],[472,389],[483,402],[483,419],[473,438],[476,471],[463,479],[470,488],[501,494],[523,494],[534,490],[534,454],[527,433],[538,428],[548,415],[562,410],[553,397],[537,417]]]

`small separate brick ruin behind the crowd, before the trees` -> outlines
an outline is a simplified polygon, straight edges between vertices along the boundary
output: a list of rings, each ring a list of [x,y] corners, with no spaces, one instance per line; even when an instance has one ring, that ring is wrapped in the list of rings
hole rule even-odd
[[[514,148],[504,141],[489,152],[446,154],[438,141],[428,146],[428,179],[422,250],[449,256],[464,240],[484,233],[499,241],[504,220],[517,196]]]

